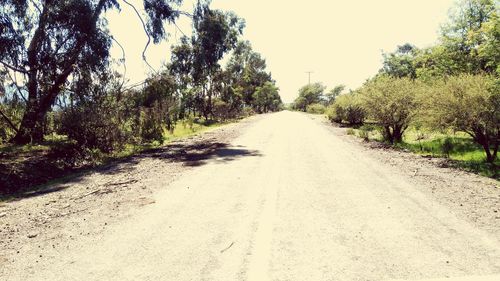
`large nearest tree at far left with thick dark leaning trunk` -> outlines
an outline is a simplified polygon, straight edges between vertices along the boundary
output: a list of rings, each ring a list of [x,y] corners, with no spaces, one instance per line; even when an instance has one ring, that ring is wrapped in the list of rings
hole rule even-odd
[[[144,28],[154,43],[166,38],[163,25],[179,17],[176,8],[181,2],[144,1]],[[113,38],[104,16],[119,8],[117,0],[2,1],[0,64],[23,77],[24,83],[17,87],[27,96],[13,142],[42,141],[47,112],[68,84],[108,67]]]

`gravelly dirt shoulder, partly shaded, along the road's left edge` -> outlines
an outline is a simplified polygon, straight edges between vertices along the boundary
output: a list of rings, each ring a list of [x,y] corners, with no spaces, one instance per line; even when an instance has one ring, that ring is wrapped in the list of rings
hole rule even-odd
[[[217,157],[217,149],[252,124],[253,116],[165,147],[0,202],[0,276],[16,259],[57,258],[79,236],[98,236],[145,205],[183,172]],[[27,263],[29,263],[27,262]],[[1,278],[0,278],[1,279]]]

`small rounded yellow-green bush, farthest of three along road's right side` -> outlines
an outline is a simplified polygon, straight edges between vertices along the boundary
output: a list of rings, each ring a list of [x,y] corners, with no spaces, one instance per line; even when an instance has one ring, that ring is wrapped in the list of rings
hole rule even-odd
[[[365,109],[358,94],[341,95],[328,107],[327,116],[332,122],[359,125],[365,120]]]

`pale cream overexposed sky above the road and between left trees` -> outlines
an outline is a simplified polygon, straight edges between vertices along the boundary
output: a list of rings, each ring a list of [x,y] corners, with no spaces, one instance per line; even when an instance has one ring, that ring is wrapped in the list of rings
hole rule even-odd
[[[142,81],[151,69],[142,61],[147,38],[130,7],[108,15],[109,28],[126,53],[129,84]],[[133,0],[142,8],[142,1]],[[436,43],[439,28],[455,0],[213,0],[212,8],[234,11],[246,21],[243,39],[267,61],[284,102],[292,102],[298,89],[322,82],[328,89],[344,84],[356,89],[382,66],[382,52],[406,42],[417,47]],[[193,1],[182,10],[192,10]],[[182,17],[167,26],[168,42],[151,46],[148,62],[155,69],[170,59],[170,46],[182,33],[191,34],[190,21]],[[120,58],[121,49],[113,47]],[[119,70],[122,68],[119,68]]]

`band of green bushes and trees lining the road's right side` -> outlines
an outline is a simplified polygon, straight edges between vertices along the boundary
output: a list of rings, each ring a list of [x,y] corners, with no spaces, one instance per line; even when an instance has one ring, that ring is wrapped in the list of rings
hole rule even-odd
[[[436,46],[407,43],[384,53],[379,73],[349,93],[307,85],[293,108],[322,113],[310,110],[321,104],[350,135],[499,179],[499,46],[498,1],[462,0]]]

